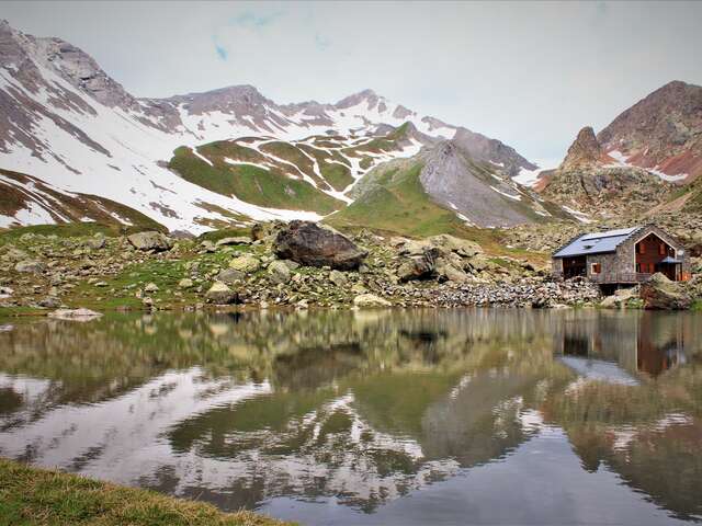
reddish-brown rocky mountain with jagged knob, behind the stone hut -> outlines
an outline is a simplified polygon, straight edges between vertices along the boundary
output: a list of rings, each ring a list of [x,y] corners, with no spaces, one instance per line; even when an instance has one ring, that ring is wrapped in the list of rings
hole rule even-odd
[[[700,173],[702,87],[673,81],[597,136],[582,128],[561,165],[540,173],[534,190],[590,217],[613,217],[622,207],[630,215],[688,210],[698,206]]]

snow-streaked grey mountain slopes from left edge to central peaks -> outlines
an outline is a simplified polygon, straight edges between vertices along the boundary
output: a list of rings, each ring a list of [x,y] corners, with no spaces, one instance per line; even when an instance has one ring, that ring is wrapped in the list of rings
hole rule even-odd
[[[412,136],[399,148],[371,151],[365,162],[363,156],[347,155],[349,148],[386,137],[403,125],[411,125]],[[202,231],[248,219],[321,217],[314,207],[265,206],[179,176],[169,169],[179,147],[197,155],[202,145],[252,136],[294,142],[296,148],[297,142],[321,136],[342,137],[339,148],[327,145],[320,155],[331,159],[332,149],[347,149],[337,152],[337,161],[350,164],[351,185],[378,162],[414,155],[431,138],[452,138],[458,129],[463,128],[421,116],[370,90],[336,104],[279,105],[249,85],[137,99],[71,44],[25,35],[0,21],[0,168],[36,178],[56,191],[123,204],[169,229]],[[484,160],[502,163],[498,153],[513,152],[483,138],[491,141],[490,149],[480,150]],[[263,144],[251,145],[256,149]],[[269,162],[282,169],[272,155],[267,155]],[[514,170],[533,168],[518,155],[510,162]],[[324,176],[314,181],[319,168],[313,168],[307,183],[341,204],[348,202],[348,185],[325,187]],[[296,176],[292,168],[281,172]],[[45,214],[5,215],[2,224],[31,222],[35,217],[47,219]]]

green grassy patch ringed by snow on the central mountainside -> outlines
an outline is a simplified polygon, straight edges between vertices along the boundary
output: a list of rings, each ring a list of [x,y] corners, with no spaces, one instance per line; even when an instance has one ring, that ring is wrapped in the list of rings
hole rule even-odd
[[[228,165],[223,160],[226,152],[219,144],[201,147],[200,151],[212,159],[214,165],[197,158],[190,148],[181,147],[176,150],[169,168],[194,184],[223,195],[236,195],[253,205],[319,214],[329,214],[343,205],[312,184],[274,170]]]

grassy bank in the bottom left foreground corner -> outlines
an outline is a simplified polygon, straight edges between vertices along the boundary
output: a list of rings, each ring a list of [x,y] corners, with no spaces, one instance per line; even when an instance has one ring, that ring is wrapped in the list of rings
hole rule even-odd
[[[275,526],[252,512],[124,488],[0,458],[0,525]]]

